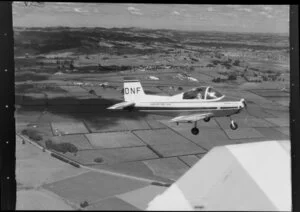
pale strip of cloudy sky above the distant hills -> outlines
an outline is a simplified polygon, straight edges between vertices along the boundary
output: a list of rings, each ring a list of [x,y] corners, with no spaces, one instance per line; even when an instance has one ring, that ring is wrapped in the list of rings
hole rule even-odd
[[[288,33],[288,5],[45,2],[13,3],[21,27],[141,27],[189,31]]]

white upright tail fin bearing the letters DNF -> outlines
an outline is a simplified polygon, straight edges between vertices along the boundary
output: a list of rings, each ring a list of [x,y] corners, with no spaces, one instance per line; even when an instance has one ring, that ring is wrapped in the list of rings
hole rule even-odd
[[[143,87],[138,80],[124,80],[125,102],[135,102],[145,97]]]

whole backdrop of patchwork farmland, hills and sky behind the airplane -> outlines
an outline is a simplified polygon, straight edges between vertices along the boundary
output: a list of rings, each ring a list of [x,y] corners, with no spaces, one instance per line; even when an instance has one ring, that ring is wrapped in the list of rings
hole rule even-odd
[[[215,146],[289,139],[287,5],[13,8],[17,209],[143,210]],[[237,130],[213,118],[195,136],[170,115],[108,111],[128,76],[157,95],[212,86],[248,108]]]

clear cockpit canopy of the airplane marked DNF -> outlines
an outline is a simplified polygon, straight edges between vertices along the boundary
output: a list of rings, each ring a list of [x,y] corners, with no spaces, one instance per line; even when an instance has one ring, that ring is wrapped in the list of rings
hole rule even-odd
[[[202,99],[202,100],[211,100],[219,99],[223,95],[211,87],[197,87],[192,90],[183,93],[183,99]]]

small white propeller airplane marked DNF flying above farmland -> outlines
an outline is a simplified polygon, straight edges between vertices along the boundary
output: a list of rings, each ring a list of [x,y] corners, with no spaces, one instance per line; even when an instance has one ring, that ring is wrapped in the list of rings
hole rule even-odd
[[[124,102],[112,105],[110,110],[140,111],[149,113],[179,114],[170,122],[194,123],[191,129],[193,135],[199,134],[197,122],[210,121],[213,117],[229,117],[230,128],[236,130],[237,123],[231,116],[246,108],[245,99],[232,101],[210,86],[196,87],[173,96],[159,96],[145,94],[137,79],[124,78]]]

